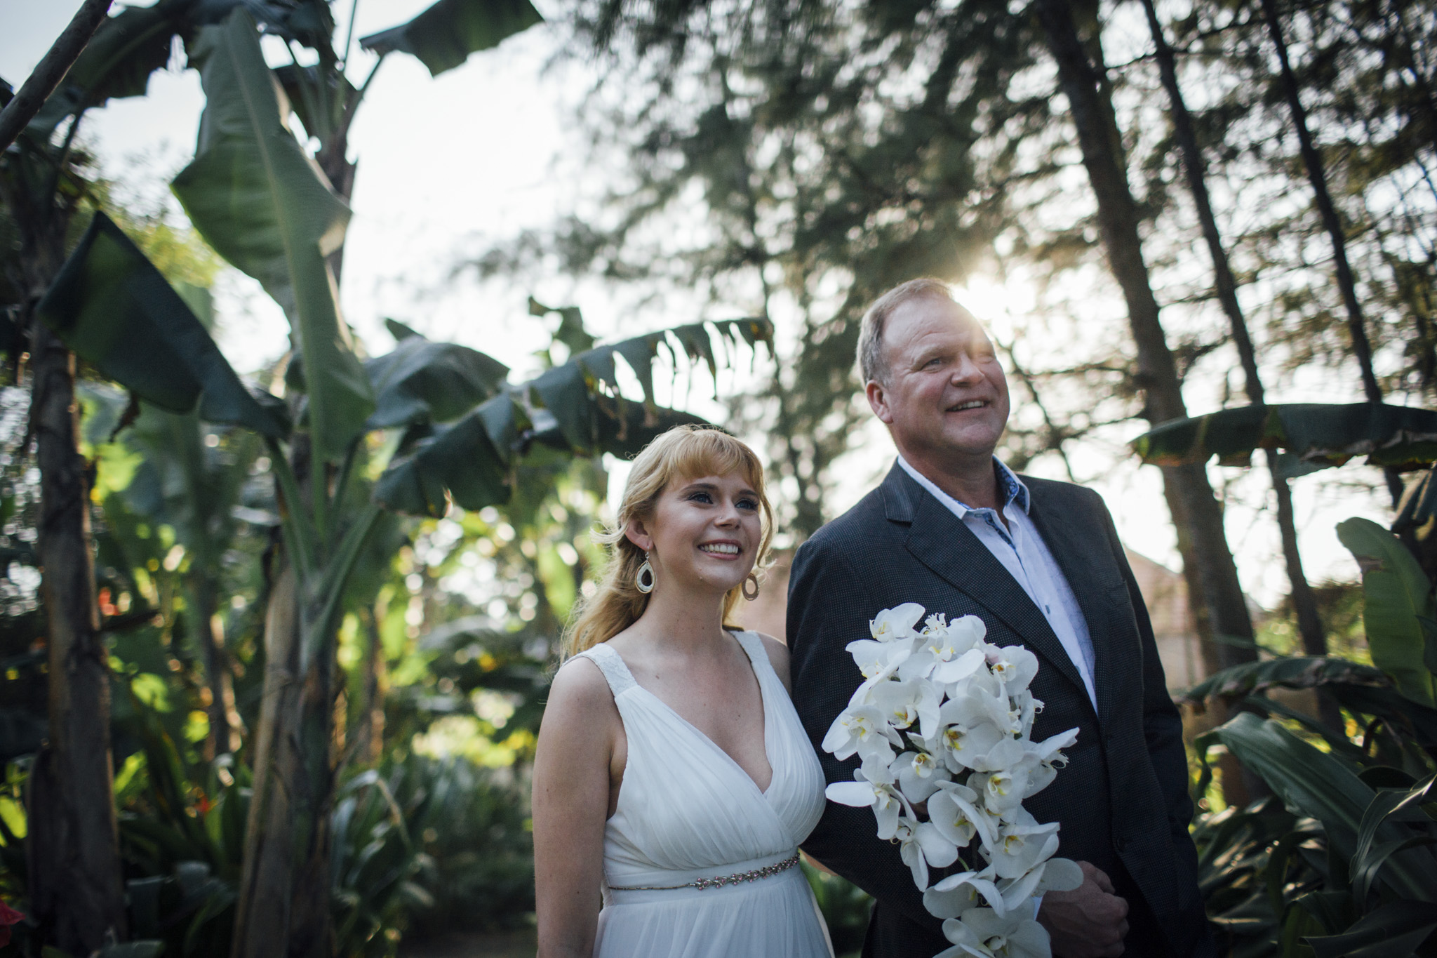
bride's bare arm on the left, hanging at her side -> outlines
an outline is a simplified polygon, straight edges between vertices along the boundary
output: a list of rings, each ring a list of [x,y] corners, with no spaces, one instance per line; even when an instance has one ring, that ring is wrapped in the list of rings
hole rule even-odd
[[[573,659],[549,689],[535,754],[539,958],[589,958],[599,922],[609,770],[622,728],[598,666]]]

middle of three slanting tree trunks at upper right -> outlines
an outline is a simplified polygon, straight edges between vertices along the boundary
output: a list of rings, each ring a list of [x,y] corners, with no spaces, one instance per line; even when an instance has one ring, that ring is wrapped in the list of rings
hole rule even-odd
[[[1197,142],[1197,132],[1193,128],[1193,116],[1183,101],[1183,89],[1177,82],[1177,63],[1173,47],[1168,46],[1158,22],[1157,9],[1152,0],[1142,0],[1142,7],[1148,14],[1148,29],[1152,32],[1152,43],[1157,47],[1158,70],[1163,76],[1163,86],[1168,95],[1170,113],[1173,116],[1173,131],[1177,134],[1178,148],[1183,152],[1183,169],[1187,174],[1187,185],[1193,192],[1193,204],[1197,207],[1197,220],[1203,227],[1203,240],[1213,259],[1213,284],[1217,290],[1217,300],[1227,313],[1227,322],[1233,333],[1233,345],[1237,348],[1237,358],[1243,366],[1246,378],[1247,399],[1255,406],[1265,404],[1262,376],[1257,373],[1257,353],[1253,349],[1252,336],[1247,333],[1247,320],[1243,316],[1242,304],[1237,302],[1237,280],[1233,277],[1232,264],[1227,261],[1227,250],[1223,248],[1221,234],[1217,231],[1217,217],[1213,214],[1213,201],[1207,192],[1207,164],[1203,159],[1203,149]],[[1308,585],[1308,576],[1302,570],[1302,554],[1298,552],[1298,526],[1292,511],[1292,488],[1288,480],[1277,473],[1277,455],[1272,450],[1266,451],[1267,473],[1272,477],[1272,488],[1277,496],[1277,529],[1282,534],[1282,554],[1288,563],[1288,580],[1292,583],[1292,608],[1298,618],[1298,632],[1302,635],[1302,648],[1308,655],[1326,655],[1328,643],[1322,632],[1322,618],[1318,613],[1318,602]]]

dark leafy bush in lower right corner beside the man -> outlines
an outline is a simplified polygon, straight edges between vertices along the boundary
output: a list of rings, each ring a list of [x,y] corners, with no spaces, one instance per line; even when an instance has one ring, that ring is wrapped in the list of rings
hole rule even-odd
[[[1362,566],[1374,666],[1338,658],[1253,662],[1187,698],[1242,704],[1198,738],[1272,789],[1193,832],[1209,918],[1234,958],[1400,958],[1433,954],[1437,931],[1437,622],[1431,583],[1395,536],[1338,527]],[[1336,730],[1266,692],[1316,688],[1349,720]],[[1354,734],[1349,734],[1349,730]]]

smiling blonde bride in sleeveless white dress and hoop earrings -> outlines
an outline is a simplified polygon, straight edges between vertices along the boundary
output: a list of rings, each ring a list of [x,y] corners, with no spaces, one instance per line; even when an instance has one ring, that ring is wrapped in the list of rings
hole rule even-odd
[[[634,461],[539,731],[539,958],[831,958],[798,868],[823,776],[787,649],[726,625],[772,523],[757,457],[718,429]]]

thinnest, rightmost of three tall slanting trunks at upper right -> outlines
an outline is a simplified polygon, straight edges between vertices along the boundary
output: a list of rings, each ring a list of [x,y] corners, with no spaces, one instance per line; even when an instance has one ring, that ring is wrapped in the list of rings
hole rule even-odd
[[[1332,205],[1332,194],[1328,191],[1328,172],[1322,164],[1322,154],[1312,142],[1312,131],[1308,128],[1308,111],[1302,106],[1302,95],[1298,88],[1298,78],[1292,72],[1292,62],[1288,57],[1288,40],[1282,34],[1282,20],[1277,14],[1276,0],[1262,0],[1263,16],[1267,20],[1267,32],[1272,34],[1273,46],[1277,49],[1277,66],[1282,73],[1283,92],[1288,96],[1288,109],[1292,111],[1292,126],[1298,132],[1298,148],[1302,152],[1302,162],[1308,168],[1308,181],[1312,184],[1312,195],[1318,204],[1318,214],[1322,217],[1322,228],[1326,230],[1332,241],[1332,266],[1336,273],[1338,290],[1342,293],[1342,306],[1346,309],[1348,333],[1352,336],[1352,355],[1357,356],[1358,368],[1362,372],[1362,394],[1368,402],[1381,402],[1382,389],[1377,385],[1377,373],[1372,371],[1372,345],[1367,339],[1367,320],[1362,316],[1362,303],[1357,297],[1357,279],[1352,276],[1352,266],[1346,259],[1346,231],[1342,220],[1338,218],[1336,207]],[[1385,468],[1382,475],[1387,480],[1387,491],[1392,497],[1392,507],[1403,498],[1403,477],[1397,470]]]

